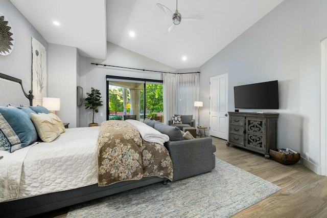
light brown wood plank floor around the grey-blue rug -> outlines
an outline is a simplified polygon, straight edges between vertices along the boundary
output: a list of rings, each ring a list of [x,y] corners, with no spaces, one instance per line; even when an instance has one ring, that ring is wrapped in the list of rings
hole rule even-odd
[[[282,188],[233,217],[327,217],[327,177],[300,163],[283,165],[212,137],[216,157]],[[219,166],[218,166],[219,167]],[[67,208],[39,217],[66,217]]]

